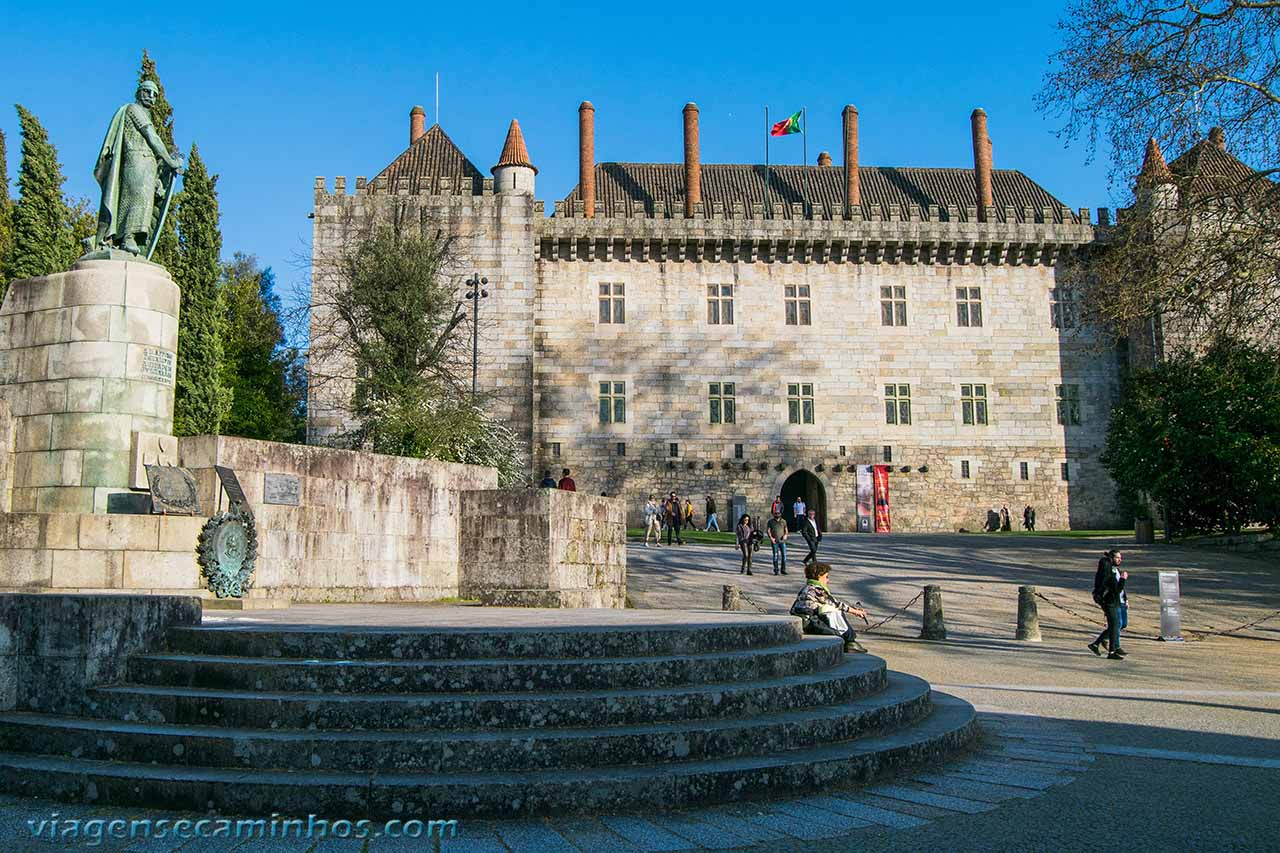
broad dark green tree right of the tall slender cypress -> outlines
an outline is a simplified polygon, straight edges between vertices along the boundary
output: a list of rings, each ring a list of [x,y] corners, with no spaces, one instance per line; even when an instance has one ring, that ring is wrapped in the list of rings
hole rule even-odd
[[[306,441],[302,359],[287,346],[275,277],[252,255],[237,252],[223,268],[227,309],[223,384],[232,409],[223,433],[271,442]]]

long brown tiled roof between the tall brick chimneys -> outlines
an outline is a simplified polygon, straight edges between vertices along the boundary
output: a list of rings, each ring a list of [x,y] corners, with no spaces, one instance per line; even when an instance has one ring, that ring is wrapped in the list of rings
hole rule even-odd
[[[742,202],[750,210],[753,204],[764,204],[764,167],[751,164],[703,164],[703,205],[716,202],[731,209]],[[844,167],[776,165],[769,168],[769,200],[790,205],[808,201],[840,209],[845,201]],[[859,169],[861,202],[870,205],[899,205],[940,209],[955,206],[960,215],[965,207],[975,205],[973,169],[920,169],[893,167],[861,167]],[[1030,207],[1037,215],[1042,207],[1053,209],[1055,222],[1061,222],[1062,202],[1021,172],[996,169],[992,172],[992,190],[997,216],[1004,218],[1004,207],[1014,207],[1018,220],[1023,209]],[[595,167],[595,200],[609,210],[616,201],[641,202],[653,213],[655,202],[667,202],[668,209],[684,205],[685,167],[682,163],[600,163]],[[581,201],[579,187],[573,187],[566,201]]]

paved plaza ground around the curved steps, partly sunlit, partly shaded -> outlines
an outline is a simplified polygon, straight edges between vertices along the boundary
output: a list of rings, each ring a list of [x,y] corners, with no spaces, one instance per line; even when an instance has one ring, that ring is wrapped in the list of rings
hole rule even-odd
[[[1043,642],[1012,640],[1016,587],[1093,617],[1088,603],[1097,555],[1125,549],[1130,570],[1130,657],[1097,658],[1084,647],[1098,629],[1041,601]],[[799,564],[771,574],[737,573],[727,546],[630,547],[631,611],[509,611],[421,606],[298,606],[287,611],[210,612],[210,625],[376,625],[445,630],[503,624],[658,625],[659,610],[712,625],[721,589],[739,584],[751,602],[785,612],[804,583]],[[863,601],[872,620],[893,613],[925,583],[943,590],[948,639],[916,638],[916,602],[863,639],[893,670],[928,679],[972,702],[984,735],[968,754],[863,789],[677,813],[591,818],[468,821],[431,841],[329,839],[320,843],[218,839],[186,843],[108,840],[109,850],[1216,850],[1280,849],[1280,619],[1240,635],[1149,639],[1158,625],[1155,573],[1178,570],[1183,621],[1226,629],[1280,606],[1280,573],[1261,558],[1170,546],[1000,535],[831,535],[822,557],[833,590]],[[763,570],[763,571],[759,571]],[[28,820],[180,817],[46,800],[0,799],[0,848],[78,849],[35,841]],[[198,816],[191,816],[198,817]],[[1100,831],[1098,827],[1106,827]]]

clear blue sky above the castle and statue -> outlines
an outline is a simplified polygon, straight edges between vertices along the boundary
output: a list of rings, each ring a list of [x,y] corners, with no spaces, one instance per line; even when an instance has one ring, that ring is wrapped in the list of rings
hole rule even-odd
[[[692,100],[704,163],[760,161],[769,105],[774,119],[806,106],[810,163],[828,149],[838,164],[840,110],[852,102],[863,164],[970,167],[969,111],[983,106],[996,168],[1021,169],[1071,207],[1117,201],[1105,158],[1064,149],[1032,104],[1065,5],[1050,0],[134,4],[114,20],[101,4],[56,5],[5,14],[0,28],[10,178],[10,105],[22,102],[58,146],[68,190],[96,204],[92,161],[146,47],[178,145],[198,143],[220,175],[225,255],[257,255],[285,293],[302,277],[315,177],[376,174],[407,145],[413,104],[430,123],[436,72],[440,124],[483,170],[520,119],[548,201],[577,179],[584,99],[598,161],[678,161]],[[797,163],[799,137],[772,152]]]

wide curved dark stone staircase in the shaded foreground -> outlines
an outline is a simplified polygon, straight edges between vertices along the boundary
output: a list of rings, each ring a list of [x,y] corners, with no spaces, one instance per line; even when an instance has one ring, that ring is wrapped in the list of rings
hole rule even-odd
[[[973,708],[788,617],[172,629],[87,715],[0,713],[0,789],[239,815],[526,817],[854,785]]]

